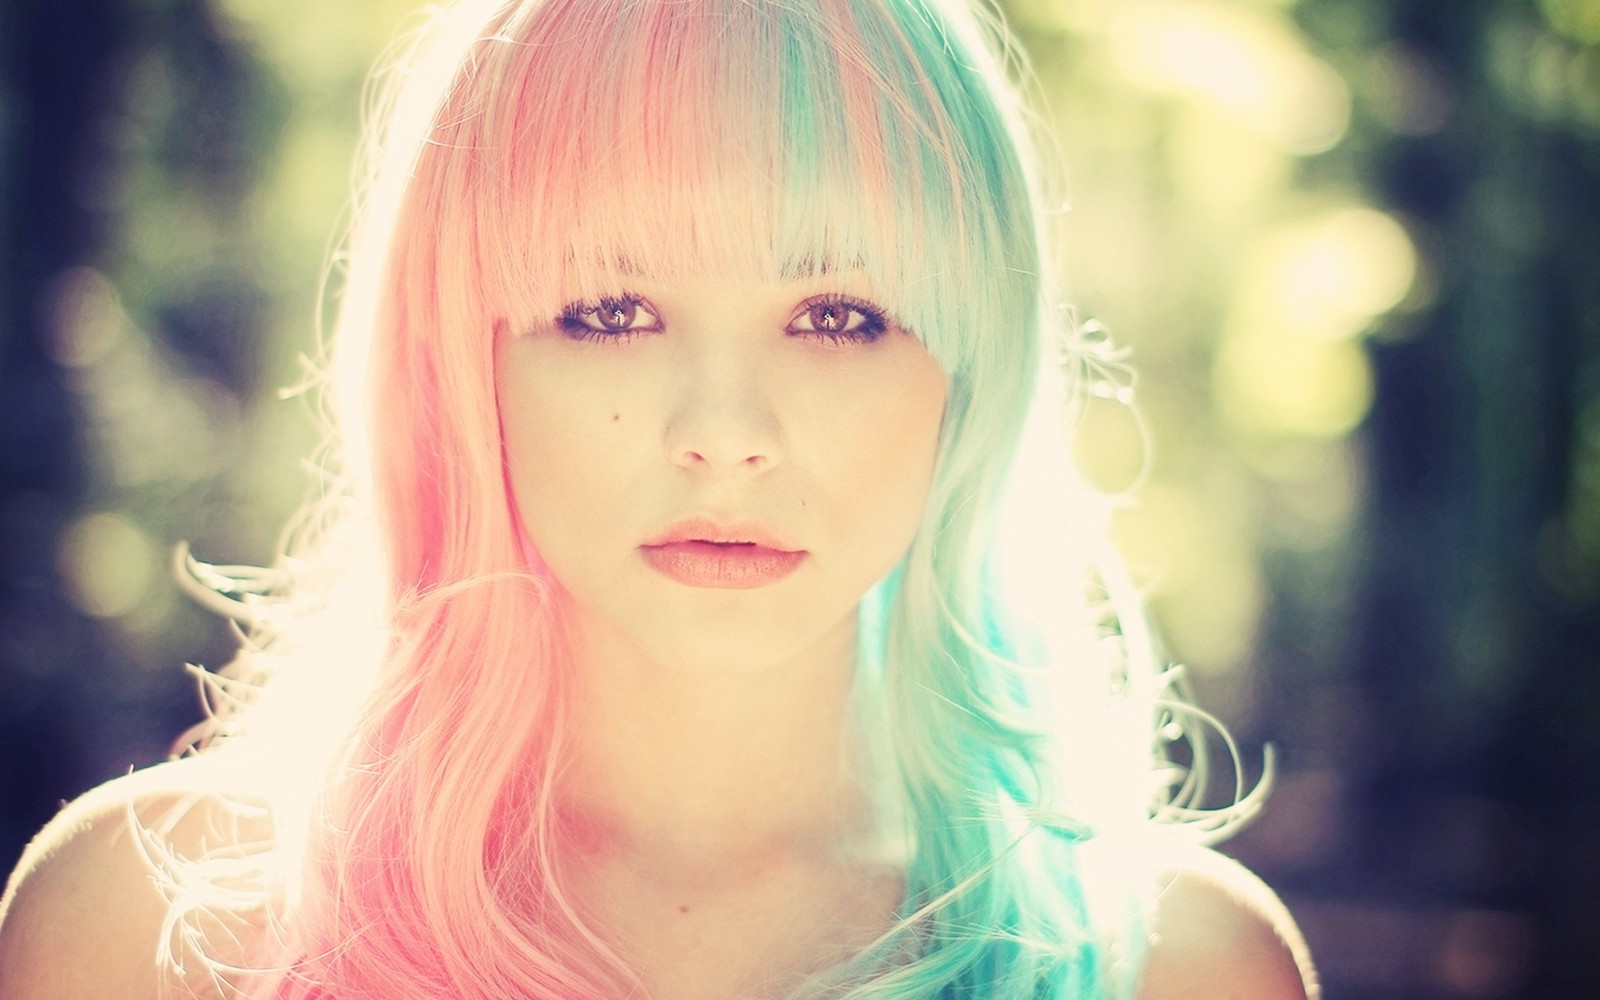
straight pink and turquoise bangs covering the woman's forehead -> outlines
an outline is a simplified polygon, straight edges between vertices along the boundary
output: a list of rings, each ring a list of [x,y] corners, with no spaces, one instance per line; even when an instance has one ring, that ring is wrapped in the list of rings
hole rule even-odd
[[[514,5],[440,136],[475,160],[488,307],[864,270],[952,378],[1026,378],[1034,200],[978,34],[910,0]]]

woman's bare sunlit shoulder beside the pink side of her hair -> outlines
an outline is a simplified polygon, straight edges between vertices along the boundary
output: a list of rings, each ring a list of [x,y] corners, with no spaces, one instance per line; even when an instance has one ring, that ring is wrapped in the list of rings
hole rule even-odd
[[[0,896],[0,1000],[149,1000],[176,984],[158,962],[171,907],[157,858],[269,835],[264,813],[208,792],[206,778],[189,762],[157,765],[40,830]]]

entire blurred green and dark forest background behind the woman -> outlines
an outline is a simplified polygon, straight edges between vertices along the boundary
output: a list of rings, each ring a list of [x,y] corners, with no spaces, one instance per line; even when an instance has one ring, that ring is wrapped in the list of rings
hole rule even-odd
[[[307,488],[280,389],[413,6],[0,6],[0,866],[229,656],[171,552],[266,562]],[[1083,461],[1283,755],[1232,850],[1331,998],[1600,997],[1600,2],[1003,6],[1139,373]]]

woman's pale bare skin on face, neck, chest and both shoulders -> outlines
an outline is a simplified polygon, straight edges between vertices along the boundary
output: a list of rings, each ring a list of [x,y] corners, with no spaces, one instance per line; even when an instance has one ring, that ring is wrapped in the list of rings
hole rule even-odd
[[[517,507],[574,621],[579,736],[558,798],[586,835],[565,877],[653,1000],[774,997],[885,930],[902,891],[858,850],[872,811],[851,771],[853,610],[915,533],[944,376],[904,331],[810,336],[859,320],[818,296],[874,301],[850,280],[629,291],[659,330],[595,342],[541,320],[507,325],[496,350]],[[707,590],[638,558],[698,515],[760,522],[806,562]],[[35,840],[0,904],[0,1000],[144,1000],[171,981],[126,810],[152,819],[202,768],[112,782]],[[202,798],[171,837],[214,843],[224,814]],[[1198,850],[1163,867],[1139,1000],[1315,995],[1264,885]]]

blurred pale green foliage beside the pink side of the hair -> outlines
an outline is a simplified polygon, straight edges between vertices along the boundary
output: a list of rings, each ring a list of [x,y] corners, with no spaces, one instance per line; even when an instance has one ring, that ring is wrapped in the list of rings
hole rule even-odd
[[[152,670],[226,656],[168,582],[173,547],[269,562],[310,483],[320,427],[286,389],[317,352],[362,83],[413,6],[155,3],[115,67],[85,192],[115,226],[48,294],[99,469],[59,566]]]

